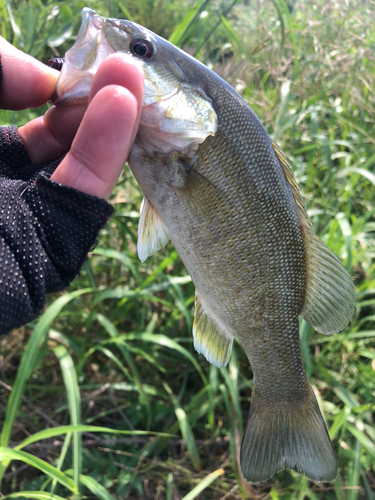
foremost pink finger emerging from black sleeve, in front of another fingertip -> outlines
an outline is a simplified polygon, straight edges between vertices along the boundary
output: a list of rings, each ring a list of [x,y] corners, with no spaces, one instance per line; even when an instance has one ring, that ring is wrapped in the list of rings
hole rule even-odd
[[[99,90],[51,180],[107,199],[133,144],[137,116],[137,99],[129,90],[115,85]]]

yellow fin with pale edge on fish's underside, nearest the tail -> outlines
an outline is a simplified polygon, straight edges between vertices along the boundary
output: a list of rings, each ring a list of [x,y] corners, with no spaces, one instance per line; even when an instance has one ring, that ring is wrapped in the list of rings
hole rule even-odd
[[[228,364],[232,353],[233,335],[223,331],[202,306],[195,295],[195,317],[193,324],[194,347],[218,368]]]

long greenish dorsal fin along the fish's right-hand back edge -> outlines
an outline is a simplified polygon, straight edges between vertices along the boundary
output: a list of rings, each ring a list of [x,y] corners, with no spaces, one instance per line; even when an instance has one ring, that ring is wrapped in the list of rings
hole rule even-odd
[[[285,180],[292,189],[301,221],[306,251],[307,283],[305,304],[301,316],[315,330],[331,335],[343,330],[355,311],[354,285],[340,259],[316,236],[299,188],[283,152],[272,142]]]

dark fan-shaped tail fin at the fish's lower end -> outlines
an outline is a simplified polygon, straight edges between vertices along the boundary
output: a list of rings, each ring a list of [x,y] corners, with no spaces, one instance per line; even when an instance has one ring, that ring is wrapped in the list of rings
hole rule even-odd
[[[336,457],[313,390],[307,402],[289,406],[259,404],[254,395],[240,457],[251,483],[266,481],[285,466],[309,479],[334,481]]]

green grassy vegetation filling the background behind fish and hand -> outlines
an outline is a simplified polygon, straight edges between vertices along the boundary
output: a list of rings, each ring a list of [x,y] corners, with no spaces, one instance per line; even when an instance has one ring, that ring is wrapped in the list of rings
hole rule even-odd
[[[194,351],[194,287],[172,246],[138,261],[141,193],[126,168],[81,275],[40,319],[1,339],[2,495],[374,500],[374,2],[0,0],[0,33],[46,62],[73,44],[84,6],[143,24],[205,62],[289,157],[315,231],[358,293],[344,332],[324,337],[301,322],[339,476],[326,485],[291,471],[241,480],[251,368],[238,344],[226,369]],[[44,111],[3,111],[0,123]]]

